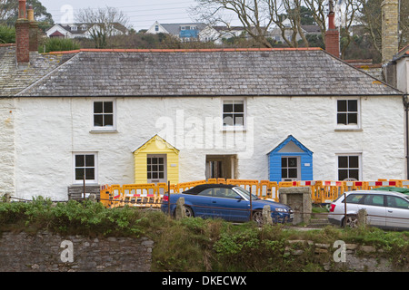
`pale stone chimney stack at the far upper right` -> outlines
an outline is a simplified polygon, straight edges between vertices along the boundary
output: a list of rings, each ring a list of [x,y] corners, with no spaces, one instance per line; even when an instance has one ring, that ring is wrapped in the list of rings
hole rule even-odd
[[[384,0],[382,8],[382,63],[392,61],[399,47],[399,0]]]

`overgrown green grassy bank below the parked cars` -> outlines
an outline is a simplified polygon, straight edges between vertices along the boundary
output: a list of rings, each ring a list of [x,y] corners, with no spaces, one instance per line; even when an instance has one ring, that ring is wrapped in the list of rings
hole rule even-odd
[[[409,232],[338,228],[299,231],[280,225],[257,227],[253,222],[231,224],[221,219],[175,220],[160,211],[141,208],[104,208],[90,201],[53,204],[45,198],[29,203],[0,202],[2,231],[49,230],[61,235],[90,237],[150,237],[155,241],[152,271],[324,271],[327,256],[306,246],[299,256],[288,255],[287,240],[303,239],[333,245],[372,245],[394,266],[407,267]],[[324,260],[323,260],[324,259]]]

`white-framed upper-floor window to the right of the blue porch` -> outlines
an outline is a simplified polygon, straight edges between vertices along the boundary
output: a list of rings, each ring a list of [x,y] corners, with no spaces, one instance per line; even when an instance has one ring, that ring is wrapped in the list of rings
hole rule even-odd
[[[360,108],[358,99],[339,99],[336,101],[336,124],[338,127],[359,128]]]

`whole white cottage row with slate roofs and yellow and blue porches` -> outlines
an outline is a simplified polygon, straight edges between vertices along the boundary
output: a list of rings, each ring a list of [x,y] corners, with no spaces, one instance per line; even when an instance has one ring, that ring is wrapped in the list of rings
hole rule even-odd
[[[321,49],[33,52],[22,66],[24,45],[0,46],[0,193],[405,179],[403,92]]]

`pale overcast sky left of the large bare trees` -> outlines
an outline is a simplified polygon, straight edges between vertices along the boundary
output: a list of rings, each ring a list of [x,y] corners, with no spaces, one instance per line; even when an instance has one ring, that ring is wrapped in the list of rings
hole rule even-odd
[[[128,15],[136,31],[148,29],[155,21],[163,24],[195,22],[188,8],[195,0],[40,0],[55,23],[63,23],[84,8],[112,6]],[[75,21],[75,18],[74,18]]]

